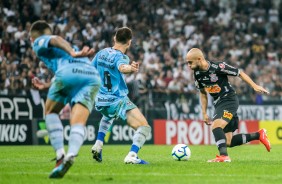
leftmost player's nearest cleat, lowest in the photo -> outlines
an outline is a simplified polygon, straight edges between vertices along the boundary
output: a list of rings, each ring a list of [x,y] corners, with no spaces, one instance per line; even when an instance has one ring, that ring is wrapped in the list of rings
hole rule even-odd
[[[49,175],[49,178],[62,178],[67,173],[69,168],[72,166],[74,162],[74,156],[69,157],[68,159],[64,160],[60,165],[55,167],[51,174]]]

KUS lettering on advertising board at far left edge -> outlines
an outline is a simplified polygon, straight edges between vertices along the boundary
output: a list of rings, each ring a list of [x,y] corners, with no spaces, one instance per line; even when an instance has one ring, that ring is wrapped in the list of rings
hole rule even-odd
[[[0,125],[0,142],[25,142],[28,128],[22,124]]]

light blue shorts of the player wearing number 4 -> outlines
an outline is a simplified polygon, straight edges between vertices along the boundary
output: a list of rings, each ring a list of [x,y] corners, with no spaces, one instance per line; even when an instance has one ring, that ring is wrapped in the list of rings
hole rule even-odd
[[[126,112],[137,108],[137,106],[130,101],[126,96],[121,98],[117,102],[113,103],[110,106],[95,106],[96,110],[101,112],[103,116],[106,116],[110,119],[122,119],[126,120]]]

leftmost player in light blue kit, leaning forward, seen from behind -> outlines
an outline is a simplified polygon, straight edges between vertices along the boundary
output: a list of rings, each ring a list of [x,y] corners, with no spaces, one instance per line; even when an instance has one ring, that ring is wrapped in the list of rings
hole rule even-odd
[[[32,24],[30,40],[36,56],[54,73],[45,107],[46,127],[57,161],[49,177],[62,178],[83,144],[85,124],[100,87],[98,72],[86,57],[94,54],[94,50],[84,47],[82,51],[75,52],[63,38],[52,35],[51,27],[42,20]],[[39,89],[49,87],[48,84],[42,86],[44,84],[38,80],[34,80],[33,84]],[[66,103],[72,107],[67,154],[64,150],[63,126],[58,116]]]

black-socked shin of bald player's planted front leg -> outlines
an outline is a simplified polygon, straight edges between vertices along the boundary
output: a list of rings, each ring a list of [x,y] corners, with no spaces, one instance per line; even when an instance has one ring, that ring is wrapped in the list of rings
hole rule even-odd
[[[220,155],[228,156],[227,154],[227,145],[226,145],[226,137],[222,128],[217,127],[212,130],[215,142],[218,148]]]

